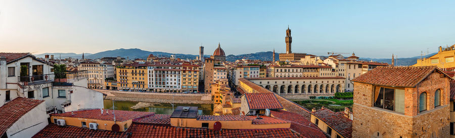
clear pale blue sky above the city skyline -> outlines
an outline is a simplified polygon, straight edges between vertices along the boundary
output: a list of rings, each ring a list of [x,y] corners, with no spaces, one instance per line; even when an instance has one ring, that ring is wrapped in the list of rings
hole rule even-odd
[[[118,48],[390,58],[455,44],[455,1],[4,1],[0,52]],[[346,54],[349,55],[349,54]]]

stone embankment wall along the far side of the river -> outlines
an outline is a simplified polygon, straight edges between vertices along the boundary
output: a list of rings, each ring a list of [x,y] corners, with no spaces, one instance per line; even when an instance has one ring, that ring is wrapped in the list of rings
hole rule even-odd
[[[113,90],[95,90],[106,94],[105,99],[149,103],[213,104],[210,94],[142,93]]]

